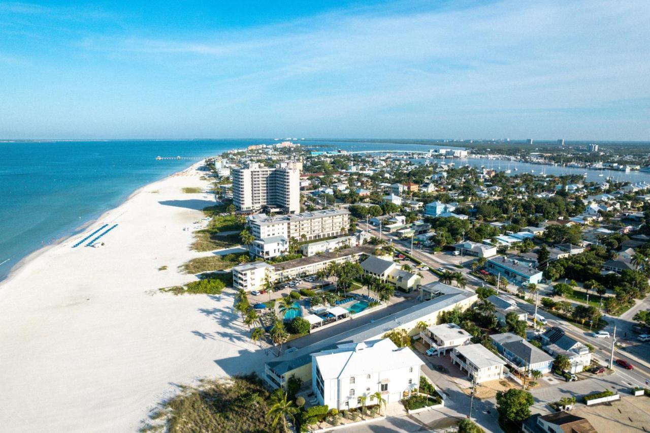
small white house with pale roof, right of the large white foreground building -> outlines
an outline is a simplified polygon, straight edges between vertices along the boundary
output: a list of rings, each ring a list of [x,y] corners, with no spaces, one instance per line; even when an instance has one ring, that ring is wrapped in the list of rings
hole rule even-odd
[[[454,348],[451,352],[451,362],[458,364],[461,370],[467,371],[467,377],[477,384],[506,376],[506,363],[481,344]]]

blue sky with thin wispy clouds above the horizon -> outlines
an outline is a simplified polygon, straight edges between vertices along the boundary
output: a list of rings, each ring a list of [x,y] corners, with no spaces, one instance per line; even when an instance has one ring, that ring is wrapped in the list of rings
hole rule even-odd
[[[0,138],[650,140],[649,22],[647,0],[0,0]]]

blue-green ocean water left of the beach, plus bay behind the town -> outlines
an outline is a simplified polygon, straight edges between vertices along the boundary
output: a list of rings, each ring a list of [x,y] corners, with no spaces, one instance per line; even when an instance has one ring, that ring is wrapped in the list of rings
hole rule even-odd
[[[23,257],[83,230],[99,215],[120,205],[136,189],[183,170],[203,157],[261,143],[272,144],[274,140],[0,142],[0,280],[6,278]],[[426,151],[432,147],[366,142],[301,141],[301,144],[333,146],[347,151]],[[156,160],[157,156],[177,155],[185,159]],[[473,159],[446,162],[501,166],[502,170],[508,164]],[[575,168],[517,164],[519,173],[531,169],[539,173],[544,167],[549,174],[551,168],[553,172],[585,172]],[[513,174],[516,174],[514,170]],[[650,179],[650,174],[646,173],[617,172],[612,176],[635,181]]]

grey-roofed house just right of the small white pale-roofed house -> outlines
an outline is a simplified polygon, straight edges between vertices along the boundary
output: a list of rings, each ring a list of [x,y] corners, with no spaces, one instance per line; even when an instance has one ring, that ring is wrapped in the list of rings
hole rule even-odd
[[[490,335],[499,354],[508,362],[510,371],[524,373],[538,370],[541,374],[551,371],[553,357],[534,347],[519,335],[512,332]]]

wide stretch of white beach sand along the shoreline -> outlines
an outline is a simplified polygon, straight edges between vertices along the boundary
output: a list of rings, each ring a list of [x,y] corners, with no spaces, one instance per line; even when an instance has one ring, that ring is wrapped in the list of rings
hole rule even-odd
[[[209,185],[198,165],[143,187],[0,283],[0,430],[136,431],[177,384],[261,365],[232,292],[157,291],[196,280],[177,267],[209,254],[189,245],[213,197],[181,191]],[[72,248],[105,223],[119,225],[104,246]]]

